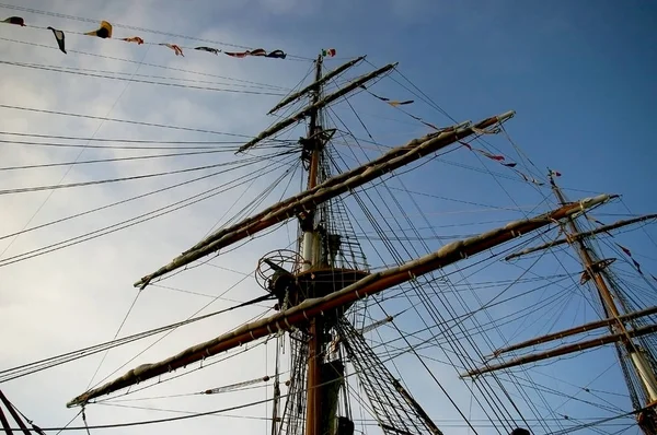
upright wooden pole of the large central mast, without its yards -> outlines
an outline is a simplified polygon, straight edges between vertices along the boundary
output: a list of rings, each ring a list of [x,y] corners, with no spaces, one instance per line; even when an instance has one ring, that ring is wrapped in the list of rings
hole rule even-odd
[[[315,61],[315,82],[320,82],[322,79],[322,55],[318,56]],[[316,106],[322,94],[321,84],[315,87],[312,94],[312,105]],[[308,124],[308,136],[302,142],[303,150],[302,156],[310,154],[310,166],[308,168],[308,189],[312,189],[318,185],[319,169],[320,169],[320,156],[322,153],[323,143],[320,139],[321,126],[318,122],[320,109],[314,108],[310,113],[310,120]],[[310,270],[313,266],[316,266],[319,260],[318,255],[318,235],[314,228],[314,215],[315,208],[306,213],[300,219],[301,230],[303,231],[303,242],[301,246],[301,257],[303,258],[302,271]],[[307,411],[306,411],[306,434],[307,435],[320,435],[322,422],[322,403],[320,396],[319,385],[320,380],[320,362],[322,355],[322,325],[320,317],[313,317],[310,320],[310,340],[308,342],[308,375],[307,375]]]

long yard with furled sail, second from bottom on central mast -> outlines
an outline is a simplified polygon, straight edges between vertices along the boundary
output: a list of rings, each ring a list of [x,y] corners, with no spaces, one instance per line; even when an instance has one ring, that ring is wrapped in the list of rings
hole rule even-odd
[[[507,111],[505,114],[484,119],[473,127],[475,129],[484,129],[511,118],[514,114],[514,111]],[[403,146],[397,146],[393,150],[390,150],[388,153],[374,158],[373,161],[370,161],[369,163],[366,163],[362,166],[336,175],[335,177],[321,183],[312,189],[278,202],[235,225],[218,231],[173,259],[169,264],[160,268],[151,274],[143,277],[134,285],[136,287],[145,289],[154,278],[162,277],[208,254],[215,252],[238,240],[252,236],[257,232],[277,224],[278,222],[293,217],[300,212],[311,210],[315,207],[315,204],[322,203],[350,189],[362,186],[364,184],[377,179],[387,173],[441,150],[460,139],[466,138],[473,133],[473,127],[460,125],[459,127],[446,129],[441,132],[427,134],[420,139],[415,139]]]

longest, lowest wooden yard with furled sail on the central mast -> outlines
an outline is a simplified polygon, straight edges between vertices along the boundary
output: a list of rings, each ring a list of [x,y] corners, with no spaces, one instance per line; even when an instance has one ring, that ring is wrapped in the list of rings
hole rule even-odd
[[[369,274],[354,284],[324,297],[306,299],[299,305],[265,319],[246,324],[205,343],[188,348],[177,355],[171,356],[159,363],[140,365],[104,386],[78,396],[69,401],[67,407],[71,408],[84,404],[93,398],[108,395],[137,383],[185,367],[188,364],[238,348],[263,337],[268,337],[281,330],[288,331],[292,328],[308,325],[309,319],[321,316],[323,313],[353,304],[358,299],[413,280],[417,275],[431,272],[484,250],[492,249],[527,233],[550,225],[555,221],[607,202],[612,198],[616,198],[616,196],[600,195],[593,198],[586,198],[579,202],[563,205],[532,219],[510,222],[504,227],[492,230],[475,237],[453,242],[433,254],[408,261],[396,268]]]

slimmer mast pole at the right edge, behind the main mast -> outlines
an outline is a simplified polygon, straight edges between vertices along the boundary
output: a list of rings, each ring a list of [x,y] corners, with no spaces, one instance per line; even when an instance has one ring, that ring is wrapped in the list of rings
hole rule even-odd
[[[552,173],[550,174],[550,185],[552,186],[552,191],[557,198],[558,202],[564,205],[567,203],[566,198],[564,197],[561,188],[554,181],[554,177]],[[567,225],[570,227],[573,234],[580,234],[579,227],[575,220],[572,216],[566,219]],[[613,289],[613,283],[608,283],[604,279],[602,270],[603,267],[597,267],[597,262],[593,261],[591,257],[592,249],[587,246],[584,237],[577,237],[574,240],[574,245],[576,247],[577,254],[579,255],[579,259],[581,260],[583,266],[585,267],[588,277],[591,279],[596,289],[598,290],[598,294],[600,299],[602,301],[602,306],[608,314],[607,317],[614,319],[612,324],[610,324],[609,328],[612,333],[620,334],[624,337],[621,339],[621,343],[625,346],[627,355],[632,362],[632,365],[636,369],[636,374],[638,379],[641,380],[641,385],[648,398],[648,403],[646,403],[646,411],[649,414],[649,418],[642,419],[642,414],[638,414],[639,426],[642,431],[644,431],[647,435],[657,434],[657,427],[655,420],[655,405],[657,404],[657,378],[655,376],[655,372],[653,371],[648,360],[646,358],[643,350],[638,348],[630,333],[627,333],[627,329],[625,328],[625,324],[622,320],[622,315],[614,302],[614,297],[618,297],[618,292]],[[632,386],[629,385],[630,388]],[[648,416],[647,414],[644,414]],[[642,421],[643,420],[643,421]]]

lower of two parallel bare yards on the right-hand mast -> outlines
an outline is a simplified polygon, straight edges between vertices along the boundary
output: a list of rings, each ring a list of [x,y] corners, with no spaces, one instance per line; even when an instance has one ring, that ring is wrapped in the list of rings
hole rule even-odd
[[[461,375],[461,377],[483,375],[484,373],[495,372],[495,371],[499,371],[503,368],[516,367],[518,365],[523,365],[523,364],[528,364],[528,363],[535,363],[538,361],[543,361],[543,360],[552,358],[555,356],[563,356],[563,355],[567,355],[569,353],[580,352],[580,351],[585,351],[587,349],[598,348],[598,346],[609,344],[609,343],[615,343],[615,342],[625,340],[627,337],[642,337],[642,336],[647,336],[647,334],[654,333],[654,332],[657,332],[657,325],[648,325],[648,326],[641,327],[637,329],[630,329],[626,332],[618,332],[618,333],[604,336],[604,337],[593,339],[593,340],[588,340],[588,341],[584,341],[584,342],[579,342],[579,343],[564,345],[561,348],[553,349],[551,351],[545,351],[545,352],[534,353],[534,354],[527,355],[527,356],[521,356],[521,357],[508,361],[506,363],[487,365],[482,368],[475,368],[473,371],[470,371],[470,372]]]

